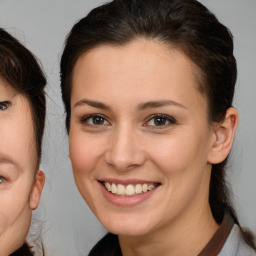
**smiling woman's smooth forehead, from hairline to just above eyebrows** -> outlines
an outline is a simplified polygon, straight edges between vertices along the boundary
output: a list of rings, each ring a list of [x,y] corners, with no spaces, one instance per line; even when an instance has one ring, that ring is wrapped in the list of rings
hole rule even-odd
[[[196,65],[180,50],[155,40],[135,40],[124,46],[101,45],[84,53],[73,72],[72,97],[86,90],[117,93],[129,88],[148,91],[193,86],[198,88]],[[179,84],[179,85],[178,85]],[[199,90],[197,90],[199,92]]]

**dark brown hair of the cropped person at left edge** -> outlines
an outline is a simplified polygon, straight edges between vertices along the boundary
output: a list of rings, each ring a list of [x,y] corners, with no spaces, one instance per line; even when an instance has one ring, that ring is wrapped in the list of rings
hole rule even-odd
[[[0,78],[24,95],[30,104],[39,166],[46,115],[46,79],[33,54],[1,28]]]

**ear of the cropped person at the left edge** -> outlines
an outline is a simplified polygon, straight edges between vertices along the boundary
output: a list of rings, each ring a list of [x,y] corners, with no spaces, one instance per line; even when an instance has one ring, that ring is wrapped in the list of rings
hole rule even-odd
[[[35,210],[39,204],[39,200],[44,187],[45,175],[43,171],[39,170],[36,173],[35,181],[30,192],[29,206],[32,210]]]

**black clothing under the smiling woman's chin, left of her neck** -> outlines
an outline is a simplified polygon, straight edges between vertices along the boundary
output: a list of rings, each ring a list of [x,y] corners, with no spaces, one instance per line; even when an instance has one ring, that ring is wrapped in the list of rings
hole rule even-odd
[[[89,256],[122,256],[118,236],[106,234],[90,251]]]

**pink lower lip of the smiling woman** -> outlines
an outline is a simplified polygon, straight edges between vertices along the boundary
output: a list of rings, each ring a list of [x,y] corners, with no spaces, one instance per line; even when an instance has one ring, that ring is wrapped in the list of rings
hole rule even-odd
[[[145,193],[142,193],[139,195],[135,195],[135,196],[116,196],[116,195],[112,194],[111,192],[109,192],[102,183],[100,183],[100,187],[101,187],[103,195],[107,199],[107,201],[109,201],[110,203],[117,205],[117,206],[138,205],[138,204],[148,200],[159,188],[159,186],[157,186],[156,188],[154,188],[148,192],[145,192]]]

